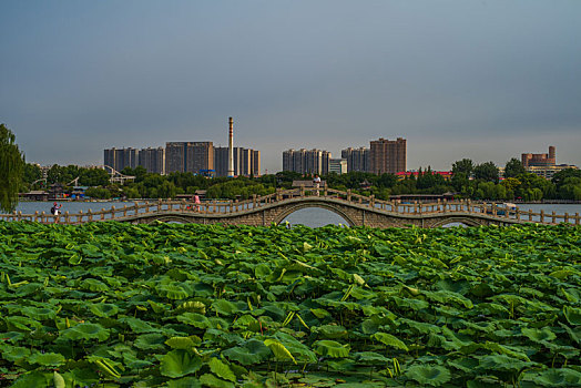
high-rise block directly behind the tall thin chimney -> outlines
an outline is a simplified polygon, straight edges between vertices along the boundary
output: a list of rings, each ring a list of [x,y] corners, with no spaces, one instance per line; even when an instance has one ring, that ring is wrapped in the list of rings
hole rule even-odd
[[[234,176],[259,176],[261,152],[252,149],[233,147]],[[230,149],[214,147],[214,167],[216,176],[228,176]]]

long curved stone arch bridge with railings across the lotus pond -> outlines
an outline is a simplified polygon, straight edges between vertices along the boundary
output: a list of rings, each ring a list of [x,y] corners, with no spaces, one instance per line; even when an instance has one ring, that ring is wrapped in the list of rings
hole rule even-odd
[[[207,201],[191,202],[159,201],[135,203],[121,208],[102,210],[58,216],[44,213],[0,215],[0,219],[37,221],[42,223],[80,224],[96,221],[119,221],[134,224],[177,222],[197,224],[254,225],[279,224],[289,214],[308,207],[319,207],[343,217],[349,226],[370,227],[438,227],[450,223],[468,226],[509,225],[536,222],[580,224],[579,214],[555,215],[533,212],[509,211],[495,204],[473,204],[470,201],[411,203],[379,201],[371,196],[351,194],[332,188],[282,191],[266,196],[253,196],[243,202]]]

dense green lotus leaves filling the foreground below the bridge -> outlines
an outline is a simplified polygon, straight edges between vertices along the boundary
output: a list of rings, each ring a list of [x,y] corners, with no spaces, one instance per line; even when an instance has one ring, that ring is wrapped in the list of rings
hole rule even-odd
[[[0,386],[581,385],[581,228],[0,223]]]

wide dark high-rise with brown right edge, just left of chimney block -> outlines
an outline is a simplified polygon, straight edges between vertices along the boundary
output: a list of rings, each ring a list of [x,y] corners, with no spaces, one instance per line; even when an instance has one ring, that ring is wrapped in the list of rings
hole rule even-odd
[[[212,142],[165,143],[165,173],[191,172],[194,174],[214,170]]]

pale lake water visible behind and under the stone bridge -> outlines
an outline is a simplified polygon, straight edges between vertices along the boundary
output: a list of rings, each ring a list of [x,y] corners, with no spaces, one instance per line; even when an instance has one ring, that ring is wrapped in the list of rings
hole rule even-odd
[[[132,206],[134,202],[59,202],[62,204],[61,212],[69,212],[69,214],[79,213],[82,211],[86,213],[89,210],[91,212],[98,212],[101,210],[109,210],[111,206],[115,208],[121,208],[123,206]],[[22,214],[34,214],[34,212],[44,212],[50,214],[50,208],[52,207],[52,202],[21,202],[17,206],[17,212],[22,212]],[[521,211],[532,210],[538,213],[541,210],[546,214],[554,212],[555,214],[569,213],[569,215],[574,215],[575,213],[581,214],[581,204],[563,205],[563,204],[519,204],[518,207]],[[325,225],[348,225],[348,223],[339,215],[318,207],[309,207],[296,211],[295,213],[288,215],[284,222],[288,222],[290,225],[303,224],[309,227],[320,227]],[[448,226],[458,226],[461,224],[449,224]]]

